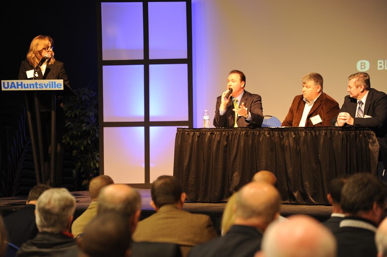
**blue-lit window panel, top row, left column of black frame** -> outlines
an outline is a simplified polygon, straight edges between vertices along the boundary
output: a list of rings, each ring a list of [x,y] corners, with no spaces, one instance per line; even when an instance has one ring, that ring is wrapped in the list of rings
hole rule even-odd
[[[102,2],[102,59],[144,58],[142,2]]]

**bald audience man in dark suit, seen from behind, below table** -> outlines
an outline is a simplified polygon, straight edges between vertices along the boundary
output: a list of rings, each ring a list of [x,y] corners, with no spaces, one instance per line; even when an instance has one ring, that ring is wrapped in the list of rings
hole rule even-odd
[[[194,247],[190,257],[253,257],[263,232],[279,216],[281,198],[275,187],[250,182],[237,193],[234,225],[222,237]]]

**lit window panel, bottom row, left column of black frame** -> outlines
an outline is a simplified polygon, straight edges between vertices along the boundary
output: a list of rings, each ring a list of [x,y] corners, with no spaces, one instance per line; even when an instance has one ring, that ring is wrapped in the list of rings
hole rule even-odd
[[[145,183],[144,128],[104,128],[104,174],[116,183]]]

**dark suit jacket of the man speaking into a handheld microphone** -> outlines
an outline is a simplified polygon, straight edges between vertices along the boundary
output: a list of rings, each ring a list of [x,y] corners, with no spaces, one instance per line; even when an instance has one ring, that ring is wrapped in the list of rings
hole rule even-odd
[[[234,103],[230,99],[226,106],[226,112],[223,115],[220,115],[219,107],[220,103],[222,102],[221,97],[222,96],[219,96],[216,99],[215,117],[213,124],[217,128],[233,128],[235,122],[235,112],[233,111]],[[261,97],[256,94],[251,94],[245,90],[239,105],[241,105],[241,103],[245,103],[245,107],[247,107],[247,110],[251,113],[252,120],[248,122],[244,117],[238,116],[238,127],[260,127],[263,121]]]

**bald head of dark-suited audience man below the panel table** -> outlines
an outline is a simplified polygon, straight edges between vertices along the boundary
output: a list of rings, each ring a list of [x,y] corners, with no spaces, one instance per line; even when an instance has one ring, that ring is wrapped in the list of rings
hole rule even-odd
[[[265,230],[267,225],[278,217],[281,198],[274,186],[263,182],[250,182],[237,193],[235,206],[234,224]]]

